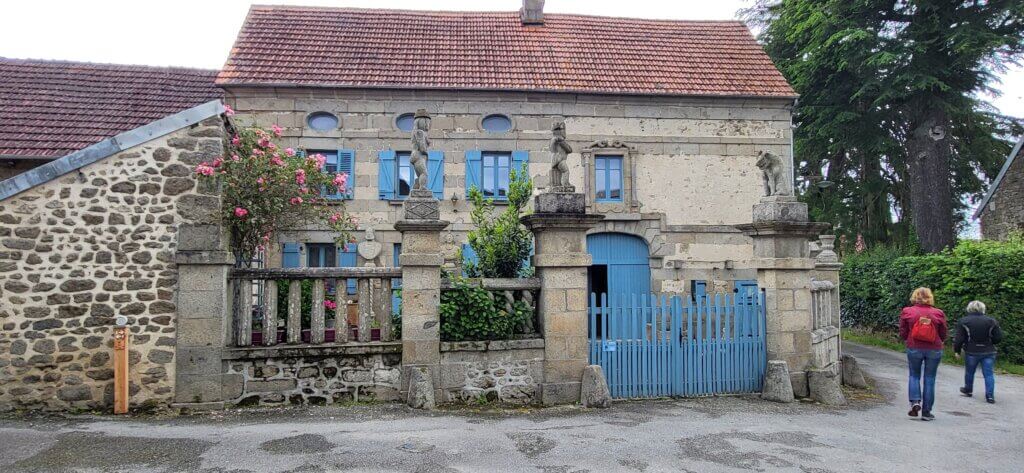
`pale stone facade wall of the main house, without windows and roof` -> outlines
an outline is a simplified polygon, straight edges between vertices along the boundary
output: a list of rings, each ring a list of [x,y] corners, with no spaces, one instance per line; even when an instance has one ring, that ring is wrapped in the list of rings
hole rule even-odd
[[[238,123],[278,124],[285,129],[285,145],[355,152],[354,199],[348,210],[360,226],[377,230],[385,261],[391,259],[392,244],[400,243],[393,225],[402,218],[402,209],[400,202],[379,199],[378,153],[410,149],[410,134],[396,127],[395,119],[418,109],[432,117],[431,149],[444,153],[440,219],[452,222],[442,232],[450,263],[471,229],[465,152],[527,150],[535,186],[543,190],[549,185],[551,125],[564,120],[575,150],[567,162],[577,189],[593,191],[587,182],[593,160],[587,157],[623,149],[630,157],[629,199],[592,205],[592,211],[606,217],[592,231],[643,238],[650,249],[654,291],[681,292],[690,280],[731,290],[731,281],[756,276],[751,241],[732,225],[750,222],[750,209],[761,197],[757,154],[767,150],[791,160],[792,102],[785,99],[242,87],[229,87],[227,96]],[[306,117],[318,111],[335,114],[338,129],[308,128]],[[513,129],[483,131],[482,118],[495,113],[509,116]],[[315,228],[285,238],[331,241]],[[269,262],[280,264],[280,256],[270,255]]]

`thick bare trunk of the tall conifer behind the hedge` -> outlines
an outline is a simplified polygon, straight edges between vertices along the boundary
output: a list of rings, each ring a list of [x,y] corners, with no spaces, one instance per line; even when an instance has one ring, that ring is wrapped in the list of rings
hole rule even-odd
[[[919,109],[922,118],[907,139],[910,217],[922,250],[937,253],[956,243],[953,224],[949,138],[944,112]]]

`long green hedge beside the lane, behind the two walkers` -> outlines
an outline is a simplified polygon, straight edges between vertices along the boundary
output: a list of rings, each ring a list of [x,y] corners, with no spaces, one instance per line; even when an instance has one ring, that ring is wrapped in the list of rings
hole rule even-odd
[[[1007,242],[964,241],[935,255],[902,256],[880,249],[843,262],[844,327],[894,332],[910,292],[928,287],[950,327],[955,327],[969,302],[984,302],[1006,334],[999,346],[1002,357],[1024,362],[1024,239],[1020,235]],[[952,343],[951,336],[948,343]]]

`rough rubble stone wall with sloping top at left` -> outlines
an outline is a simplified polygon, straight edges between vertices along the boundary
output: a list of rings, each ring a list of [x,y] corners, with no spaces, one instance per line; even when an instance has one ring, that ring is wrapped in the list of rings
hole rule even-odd
[[[209,119],[0,202],[0,410],[111,406],[117,315],[132,404],[170,400],[175,231],[219,212],[191,165],[222,134]]]

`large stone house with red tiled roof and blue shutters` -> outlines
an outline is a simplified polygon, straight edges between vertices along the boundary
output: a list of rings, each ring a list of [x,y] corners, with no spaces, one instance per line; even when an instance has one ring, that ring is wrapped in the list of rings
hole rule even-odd
[[[387,261],[398,252],[412,117],[424,109],[431,187],[453,222],[450,264],[471,228],[468,187],[500,202],[509,170],[526,164],[543,191],[552,125],[564,121],[571,183],[605,217],[591,230],[594,292],[753,287],[752,243],[734,225],[763,195],[758,153],[792,161],[796,93],[748,29],[524,18],[255,6],[217,85],[239,124],[280,125],[287,145],[353,173],[343,198]],[[361,264],[315,228],[281,238],[269,266]]]

